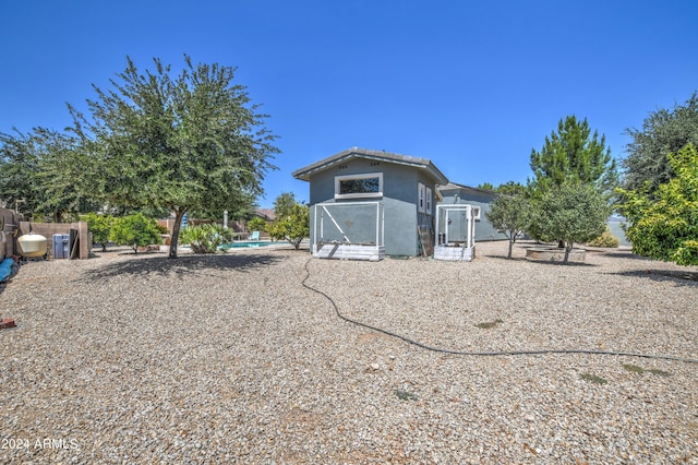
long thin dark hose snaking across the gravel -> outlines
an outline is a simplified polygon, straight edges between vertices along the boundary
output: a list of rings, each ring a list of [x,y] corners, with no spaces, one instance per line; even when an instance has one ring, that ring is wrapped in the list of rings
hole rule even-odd
[[[329,300],[329,303],[332,303],[333,308],[335,309],[335,313],[337,314],[337,317],[339,317],[341,320],[344,320],[344,321],[346,321],[348,323],[356,324],[357,326],[365,327],[366,330],[372,330],[372,331],[376,331],[378,333],[383,333],[385,335],[401,339],[401,341],[404,341],[404,342],[406,342],[408,344],[411,344],[411,345],[417,346],[417,347],[421,347],[421,348],[426,349],[426,350],[432,350],[432,351],[442,353],[442,354],[465,355],[465,356],[474,356],[474,357],[497,357],[497,356],[514,356],[514,355],[545,355],[545,354],[612,355],[612,356],[640,357],[640,358],[654,358],[654,359],[661,359],[661,360],[683,361],[683,362],[686,362],[686,363],[698,363],[698,359],[693,359],[693,358],[672,357],[672,356],[667,356],[667,355],[635,354],[635,353],[613,351],[613,350],[539,349],[539,350],[470,351],[470,350],[453,350],[453,349],[445,349],[445,348],[440,348],[440,347],[428,346],[426,344],[422,344],[422,343],[420,343],[418,341],[410,339],[409,337],[402,336],[401,334],[393,333],[390,331],[383,330],[381,327],[373,326],[371,324],[362,323],[360,321],[352,320],[352,319],[341,314],[341,312],[339,311],[339,308],[337,307],[337,303],[335,302],[335,300],[332,297],[329,297],[327,294],[323,293],[322,290],[316,289],[316,288],[305,284],[305,282],[310,278],[310,270],[308,269],[308,265],[310,264],[311,260],[312,259],[308,259],[308,261],[305,262],[305,265],[304,265],[305,277],[301,282],[301,285],[304,288],[306,288],[309,290],[312,290],[315,294],[320,294],[321,296],[323,296],[327,300]]]

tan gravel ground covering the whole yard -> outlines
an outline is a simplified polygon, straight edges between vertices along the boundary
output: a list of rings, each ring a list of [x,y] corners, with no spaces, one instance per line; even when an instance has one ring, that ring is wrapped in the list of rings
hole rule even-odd
[[[1,463],[698,463],[698,269],[98,253],[0,294]],[[491,327],[479,327],[483,326]]]

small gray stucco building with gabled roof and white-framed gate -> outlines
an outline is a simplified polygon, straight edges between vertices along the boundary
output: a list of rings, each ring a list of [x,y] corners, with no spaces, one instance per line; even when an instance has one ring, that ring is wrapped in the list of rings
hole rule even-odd
[[[419,231],[433,240],[437,186],[448,182],[428,158],[358,147],[293,177],[310,182],[312,252],[353,245],[352,251],[374,249],[368,260],[420,254]]]

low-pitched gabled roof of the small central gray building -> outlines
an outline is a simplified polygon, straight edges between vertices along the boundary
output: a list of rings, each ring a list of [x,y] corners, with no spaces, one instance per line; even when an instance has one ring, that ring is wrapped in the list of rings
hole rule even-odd
[[[421,158],[411,155],[401,155],[385,151],[370,151],[366,148],[352,147],[340,152],[338,154],[328,156],[327,158],[321,159],[320,162],[315,162],[312,165],[308,165],[304,168],[297,169],[292,172],[296,179],[301,179],[303,181],[310,181],[310,177],[316,172],[324,171],[325,169],[330,168],[334,165],[346,162],[351,158],[368,158],[368,159],[376,159],[381,162],[394,163],[398,165],[407,165],[413,166],[416,168],[424,169],[429,174],[431,174],[435,179],[436,183],[445,184],[448,182],[448,179],[444,176],[443,172],[429,159]]]

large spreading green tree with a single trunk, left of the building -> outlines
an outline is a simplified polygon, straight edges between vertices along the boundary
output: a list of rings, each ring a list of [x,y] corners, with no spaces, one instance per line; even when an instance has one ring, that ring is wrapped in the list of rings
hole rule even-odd
[[[234,68],[192,63],[171,76],[154,59],[140,72],[128,58],[111,88],[94,86],[88,116],[70,106],[73,130],[89,153],[83,172],[110,205],[174,213],[170,258],[177,257],[181,219],[190,211],[234,211],[262,193],[275,167],[276,139],[264,126]]]

